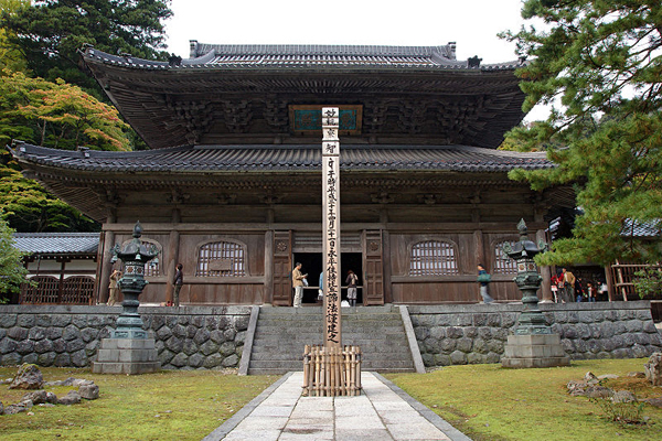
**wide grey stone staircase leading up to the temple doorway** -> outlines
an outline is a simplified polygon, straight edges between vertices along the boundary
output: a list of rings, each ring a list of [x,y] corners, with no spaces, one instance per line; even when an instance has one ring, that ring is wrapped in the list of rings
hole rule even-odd
[[[322,343],[322,324],[320,306],[260,308],[248,375],[303,370],[303,347]],[[415,372],[397,306],[343,308],[342,343],[361,346],[362,370]]]

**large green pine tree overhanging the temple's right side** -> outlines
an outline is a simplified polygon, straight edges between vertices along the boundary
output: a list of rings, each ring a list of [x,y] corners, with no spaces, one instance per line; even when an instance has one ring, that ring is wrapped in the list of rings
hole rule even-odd
[[[522,17],[544,22],[502,35],[530,60],[519,71],[524,110],[538,103],[553,110],[511,135],[546,149],[558,166],[511,178],[534,190],[574,184],[583,211],[573,237],[540,262],[658,261],[660,240],[633,233],[662,219],[662,3],[527,0]]]

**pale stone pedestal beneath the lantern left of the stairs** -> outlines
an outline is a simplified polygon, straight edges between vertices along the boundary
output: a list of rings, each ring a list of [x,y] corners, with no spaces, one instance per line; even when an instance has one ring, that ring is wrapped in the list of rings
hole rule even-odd
[[[97,361],[92,362],[94,374],[149,374],[159,372],[153,338],[104,338]]]

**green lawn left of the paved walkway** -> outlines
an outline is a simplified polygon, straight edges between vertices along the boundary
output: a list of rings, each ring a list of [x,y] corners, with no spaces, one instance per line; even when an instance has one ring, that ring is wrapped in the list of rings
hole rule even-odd
[[[92,379],[99,399],[79,405],[32,408],[0,417],[0,439],[14,440],[201,440],[259,395],[278,377],[238,377],[215,370],[164,370],[148,375],[94,375],[89,369],[40,368],[46,381]],[[10,378],[15,367],[0,367]],[[46,387],[58,397],[72,387]],[[4,406],[25,390],[0,385]]]

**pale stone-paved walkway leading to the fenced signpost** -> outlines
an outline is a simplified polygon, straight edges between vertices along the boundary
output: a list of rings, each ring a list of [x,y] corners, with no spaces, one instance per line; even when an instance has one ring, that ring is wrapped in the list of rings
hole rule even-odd
[[[470,441],[375,373],[362,373],[360,397],[302,397],[303,373],[289,373],[203,441]]]

